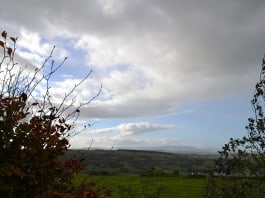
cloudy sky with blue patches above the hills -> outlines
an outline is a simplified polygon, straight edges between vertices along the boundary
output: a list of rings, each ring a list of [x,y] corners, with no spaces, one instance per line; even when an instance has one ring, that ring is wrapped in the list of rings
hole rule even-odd
[[[93,70],[72,148],[220,150],[247,133],[265,54],[263,0],[0,0],[23,64],[60,63],[51,93]]]

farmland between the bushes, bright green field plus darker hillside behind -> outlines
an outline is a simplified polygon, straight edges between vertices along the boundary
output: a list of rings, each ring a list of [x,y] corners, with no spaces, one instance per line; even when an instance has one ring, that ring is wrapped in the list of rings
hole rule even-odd
[[[65,158],[83,158],[86,168],[75,184],[95,182],[111,197],[203,197],[204,173],[215,155],[135,150],[69,150]]]

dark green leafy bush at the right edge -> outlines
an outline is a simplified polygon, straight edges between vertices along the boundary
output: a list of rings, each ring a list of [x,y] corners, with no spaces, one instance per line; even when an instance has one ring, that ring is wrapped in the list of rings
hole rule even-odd
[[[265,59],[251,101],[247,136],[225,144],[208,175],[206,197],[265,197]],[[214,176],[217,175],[218,177]]]

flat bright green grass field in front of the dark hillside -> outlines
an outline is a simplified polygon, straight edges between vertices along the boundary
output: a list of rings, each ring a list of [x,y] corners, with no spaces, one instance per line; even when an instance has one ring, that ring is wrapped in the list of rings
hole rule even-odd
[[[94,181],[107,187],[117,198],[190,198],[203,197],[204,178],[143,177],[143,176],[78,176],[76,184]]]

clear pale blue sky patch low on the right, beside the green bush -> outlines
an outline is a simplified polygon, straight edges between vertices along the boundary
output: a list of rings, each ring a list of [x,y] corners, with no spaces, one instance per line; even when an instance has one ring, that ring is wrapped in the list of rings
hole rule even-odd
[[[187,104],[185,106],[191,109],[190,113],[163,119],[175,119],[176,137],[183,141],[219,145],[230,137],[242,137],[247,133],[245,126],[252,111],[244,101],[230,97]]]

